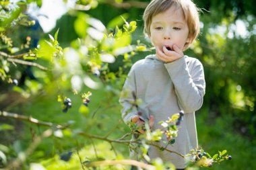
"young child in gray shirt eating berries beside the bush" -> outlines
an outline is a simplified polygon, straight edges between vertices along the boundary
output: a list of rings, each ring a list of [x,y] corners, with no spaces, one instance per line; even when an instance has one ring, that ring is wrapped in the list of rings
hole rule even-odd
[[[167,148],[186,155],[197,148],[195,111],[201,108],[205,94],[201,62],[183,54],[199,34],[198,10],[191,0],[152,0],[143,20],[144,32],[156,48],[156,54],[146,56],[131,67],[123,87],[123,91],[129,93],[119,100],[123,106],[122,117],[126,124],[149,121],[154,130],[160,128],[158,122],[183,110],[185,115],[176,142]],[[133,106],[135,98],[142,100],[137,108]],[[136,159],[136,153],[131,155]],[[153,146],[148,155],[170,161],[177,169],[186,167],[185,159],[179,155]]]

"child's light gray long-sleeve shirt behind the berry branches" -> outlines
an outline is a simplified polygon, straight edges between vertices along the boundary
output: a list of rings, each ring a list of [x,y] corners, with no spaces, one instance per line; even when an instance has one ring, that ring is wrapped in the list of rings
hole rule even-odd
[[[180,110],[185,116],[179,126],[178,137],[168,149],[186,155],[192,148],[197,148],[197,130],[195,111],[201,108],[205,94],[203,66],[196,58],[183,56],[174,62],[164,63],[152,54],[135,62],[129,77],[125,81],[123,91],[128,91],[119,99],[123,106],[122,117],[126,124],[137,116],[137,109],[131,104],[134,101],[132,91],[137,99],[141,99],[139,111],[141,118],[154,116],[154,127],[161,128],[158,122],[168,120]],[[166,144],[159,142],[160,146]],[[134,153],[131,153],[134,156]],[[135,159],[135,157],[131,157]],[[150,158],[160,157],[163,161],[171,161],[176,168],[184,168],[186,161],[179,155],[159,151],[151,147]]]

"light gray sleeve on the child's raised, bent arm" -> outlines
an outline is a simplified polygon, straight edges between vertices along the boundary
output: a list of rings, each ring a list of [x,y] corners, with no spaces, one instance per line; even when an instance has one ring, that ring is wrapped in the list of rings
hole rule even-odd
[[[192,113],[201,108],[205,95],[203,65],[199,60],[191,60],[187,66],[185,56],[174,62],[164,64],[174,84],[179,107],[185,113]]]

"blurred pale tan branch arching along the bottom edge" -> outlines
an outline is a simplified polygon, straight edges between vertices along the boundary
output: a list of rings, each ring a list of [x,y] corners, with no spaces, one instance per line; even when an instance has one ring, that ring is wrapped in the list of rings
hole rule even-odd
[[[117,165],[117,164],[122,164],[122,165],[133,165],[136,167],[141,167],[143,169],[149,169],[149,170],[155,170],[156,167],[154,167],[153,165],[148,165],[146,163],[141,163],[139,161],[135,161],[135,160],[127,160],[127,159],[123,159],[123,160],[113,160],[113,161],[94,161],[92,163],[85,163],[86,167],[98,167],[100,165]]]

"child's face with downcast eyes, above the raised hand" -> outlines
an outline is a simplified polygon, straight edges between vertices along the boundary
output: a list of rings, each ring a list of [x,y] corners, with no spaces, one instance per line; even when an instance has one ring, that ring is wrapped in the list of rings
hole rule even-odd
[[[173,6],[152,17],[150,32],[152,44],[161,50],[164,46],[168,50],[173,50],[172,46],[174,44],[183,50],[185,43],[189,42],[189,28],[183,11],[180,8],[175,9]]]

